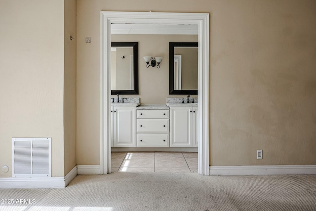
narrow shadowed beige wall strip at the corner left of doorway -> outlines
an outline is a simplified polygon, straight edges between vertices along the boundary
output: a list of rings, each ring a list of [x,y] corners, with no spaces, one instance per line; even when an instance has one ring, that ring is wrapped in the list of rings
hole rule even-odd
[[[65,0],[64,20],[64,169],[76,166],[77,0]],[[74,39],[70,40],[70,36]]]

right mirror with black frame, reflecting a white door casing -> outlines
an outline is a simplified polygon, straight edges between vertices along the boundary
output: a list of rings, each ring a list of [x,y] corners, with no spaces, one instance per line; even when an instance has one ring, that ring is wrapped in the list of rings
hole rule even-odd
[[[169,42],[169,94],[197,94],[197,42]]]

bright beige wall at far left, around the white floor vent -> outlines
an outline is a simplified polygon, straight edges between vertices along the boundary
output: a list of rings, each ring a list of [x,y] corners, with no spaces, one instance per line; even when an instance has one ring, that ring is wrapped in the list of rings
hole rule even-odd
[[[51,137],[64,176],[64,1],[0,0],[0,177],[12,137]]]

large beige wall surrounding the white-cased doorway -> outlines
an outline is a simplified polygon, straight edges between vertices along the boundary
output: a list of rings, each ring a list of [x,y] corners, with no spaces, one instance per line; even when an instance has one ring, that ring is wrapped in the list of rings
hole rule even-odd
[[[210,14],[211,165],[316,164],[315,0],[78,0],[79,164],[100,161],[100,11],[107,10]]]

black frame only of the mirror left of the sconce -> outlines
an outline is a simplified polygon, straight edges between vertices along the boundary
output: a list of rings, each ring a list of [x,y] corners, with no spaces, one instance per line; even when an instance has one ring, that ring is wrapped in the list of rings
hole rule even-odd
[[[111,42],[112,47],[133,47],[134,89],[111,90],[111,94],[138,94],[138,42]]]

